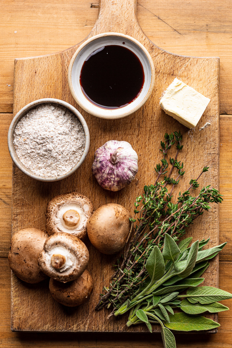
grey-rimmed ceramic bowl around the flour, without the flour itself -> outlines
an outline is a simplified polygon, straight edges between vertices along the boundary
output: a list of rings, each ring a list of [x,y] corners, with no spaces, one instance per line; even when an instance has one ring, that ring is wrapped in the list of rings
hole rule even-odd
[[[61,106],[64,106],[65,108],[67,108],[69,111],[71,111],[81,122],[82,127],[84,129],[85,132],[85,149],[82,153],[82,156],[79,160],[79,162],[71,169],[71,171],[67,172],[66,174],[63,175],[59,175],[59,176],[40,176],[37,175],[35,173],[33,173],[32,171],[30,171],[30,169],[26,168],[22,162],[19,160],[16,150],[15,150],[15,145],[14,145],[14,131],[15,131],[15,127],[17,126],[17,123],[19,120],[21,120],[21,118],[31,109],[34,109],[36,106],[40,105],[40,104],[47,104],[47,103],[53,103],[53,104],[59,104]],[[14,163],[16,164],[16,166],[26,175],[32,177],[33,179],[39,180],[39,181],[58,181],[58,180],[62,180],[65,179],[66,177],[70,176],[71,174],[73,174],[79,167],[80,165],[83,163],[83,161],[85,160],[87,153],[89,151],[89,142],[90,142],[90,136],[89,136],[89,129],[88,126],[86,124],[85,119],[82,117],[82,115],[80,114],[80,112],[75,109],[71,104],[66,103],[62,100],[59,99],[54,99],[54,98],[44,98],[44,99],[39,99],[36,100],[34,102],[31,102],[30,104],[27,104],[26,106],[24,106],[24,108],[22,108],[21,110],[19,110],[19,112],[15,115],[15,117],[13,118],[10,127],[9,127],[9,131],[8,131],[8,149],[10,152],[10,156],[12,158],[12,160],[14,161]]]

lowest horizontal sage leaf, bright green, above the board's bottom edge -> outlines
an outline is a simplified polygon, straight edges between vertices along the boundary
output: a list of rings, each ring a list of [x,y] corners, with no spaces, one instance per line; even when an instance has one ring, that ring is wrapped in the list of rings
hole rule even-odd
[[[186,313],[170,314],[169,320],[170,322],[165,322],[164,325],[168,329],[176,331],[212,330],[220,326],[220,324],[201,315],[192,316]]]

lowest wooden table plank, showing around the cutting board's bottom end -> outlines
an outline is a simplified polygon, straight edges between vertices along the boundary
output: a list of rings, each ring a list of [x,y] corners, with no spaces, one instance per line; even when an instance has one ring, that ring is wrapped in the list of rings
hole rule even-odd
[[[2,348],[163,348],[161,335],[158,333],[27,333],[12,332],[10,330],[10,269],[6,258],[0,258],[0,346]],[[232,292],[231,262],[219,264],[219,287]],[[232,308],[232,299],[222,301]],[[178,348],[231,348],[231,311],[221,312],[218,315],[221,326],[217,334],[175,334]]]

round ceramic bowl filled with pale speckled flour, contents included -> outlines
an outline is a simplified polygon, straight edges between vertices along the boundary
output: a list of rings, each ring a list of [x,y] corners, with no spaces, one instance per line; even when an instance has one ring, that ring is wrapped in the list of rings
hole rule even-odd
[[[80,112],[59,99],[27,104],[13,118],[8,148],[16,166],[33,179],[57,181],[74,173],[89,151],[89,129]]]

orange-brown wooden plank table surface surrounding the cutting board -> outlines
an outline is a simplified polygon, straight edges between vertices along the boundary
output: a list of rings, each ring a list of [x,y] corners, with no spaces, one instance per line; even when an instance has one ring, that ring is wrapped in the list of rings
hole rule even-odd
[[[126,1],[126,0],[125,0]],[[97,18],[88,0],[0,0],[0,347],[162,347],[159,334],[42,334],[10,330],[11,158],[7,131],[13,111],[14,58],[57,52],[81,41]],[[139,23],[169,52],[220,57],[219,287],[232,292],[232,0],[139,0]],[[196,154],[197,156],[197,154]],[[231,307],[232,300],[223,301]],[[232,347],[232,310],[219,313],[217,334],[178,334],[177,347]]]

